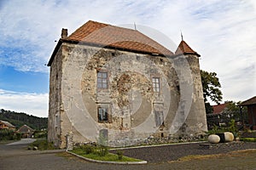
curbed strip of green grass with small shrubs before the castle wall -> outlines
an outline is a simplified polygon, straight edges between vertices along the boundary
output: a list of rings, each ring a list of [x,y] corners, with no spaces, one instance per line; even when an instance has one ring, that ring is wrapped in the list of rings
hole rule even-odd
[[[97,153],[92,152],[90,154],[85,154],[84,150],[81,149],[74,149],[70,150],[71,152],[79,155],[79,156],[84,156],[86,158],[90,158],[93,160],[99,160],[99,161],[141,161],[135,158],[127,157],[127,156],[122,156],[122,159],[119,159],[119,156],[116,154],[108,153],[106,156],[99,156]]]

